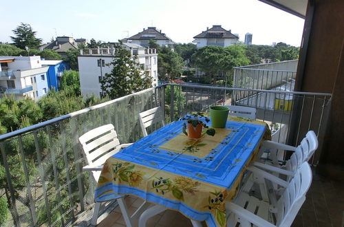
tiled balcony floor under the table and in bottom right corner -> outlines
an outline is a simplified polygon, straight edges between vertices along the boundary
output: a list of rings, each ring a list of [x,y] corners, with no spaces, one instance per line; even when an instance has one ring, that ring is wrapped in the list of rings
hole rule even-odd
[[[140,206],[142,199],[136,197],[126,198],[129,213]],[[314,175],[310,190],[306,195],[299,214],[294,220],[294,227],[343,227],[344,226],[344,182],[334,182],[327,180],[319,175]],[[206,226],[205,223],[202,223]],[[119,208],[114,209],[103,221],[98,224],[99,227],[125,226]],[[137,226],[137,224],[136,224]],[[147,222],[147,227],[191,227],[191,221],[173,210],[166,210],[160,215],[152,217]]]

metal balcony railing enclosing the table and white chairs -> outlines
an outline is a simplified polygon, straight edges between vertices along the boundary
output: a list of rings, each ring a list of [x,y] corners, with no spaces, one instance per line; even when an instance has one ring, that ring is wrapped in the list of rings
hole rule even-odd
[[[299,108],[275,107],[287,96],[293,98],[290,105]],[[272,129],[277,126],[273,140],[294,138],[295,145],[305,131],[314,130],[321,142],[330,98],[331,94],[320,93],[166,84],[1,135],[0,190],[11,210],[6,225],[87,225],[92,217],[95,184],[82,171],[85,162],[78,137],[100,125],[113,124],[120,142],[128,143],[142,138],[138,114],[157,105],[164,109],[167,123],[191,111],[207,111],[216,103],[247,105],[257,108],[257,119]],[[301,115],[292,118],[294,114]],[[317,151],[312,164],[317,164],[319,155]],[[316,187],[321,188],[318,183]],[[311,198],[316,199],[315,194]],[[107,219],[114,224],[119,220],[111,220],[114,217]],[[173,217],[182,219],[182,215]]]

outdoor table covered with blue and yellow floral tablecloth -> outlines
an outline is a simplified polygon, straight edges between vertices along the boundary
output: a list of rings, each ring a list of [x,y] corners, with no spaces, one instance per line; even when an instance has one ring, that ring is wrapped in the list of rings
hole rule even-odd
[[[109,158],[96,202],[134,195],[208,226],[226,226],[225,202],[235,197],[270,130],[265,122],[228,117],[215,136],[190,139],[182,133],[183,123],[172,122]]]

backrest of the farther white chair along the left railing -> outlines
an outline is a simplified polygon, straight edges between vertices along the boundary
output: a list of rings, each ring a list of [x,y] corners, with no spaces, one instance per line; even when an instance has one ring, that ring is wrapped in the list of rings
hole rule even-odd
[[[154,125],[157,122],[161,122],[162,126],[165,125],[164,114],[162,113],[161,107],[155,107],[147,111],[143,111],[139,114],[140,125],[142,129],[143,136],[147,136],[147,127]]]

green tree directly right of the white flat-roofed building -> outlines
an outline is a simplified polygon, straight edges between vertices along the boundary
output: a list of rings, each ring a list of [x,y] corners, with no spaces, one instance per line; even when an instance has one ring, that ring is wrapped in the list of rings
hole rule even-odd
[[[183,58],[170,47],[160,47],[158,51],[158,74],[160,80],[169,81],[182,75]]]

